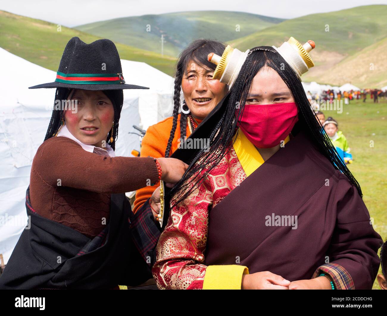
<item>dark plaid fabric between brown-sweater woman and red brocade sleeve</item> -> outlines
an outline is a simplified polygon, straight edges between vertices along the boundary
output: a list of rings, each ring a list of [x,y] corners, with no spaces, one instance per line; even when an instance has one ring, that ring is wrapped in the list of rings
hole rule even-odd
[[[152,267],[154,262],[153,250],[156,248],[161,235],[161,227],[154,220],[149,199],[137,210],[136,214],[131,212],[129,227],[134,245],[149,267]]]

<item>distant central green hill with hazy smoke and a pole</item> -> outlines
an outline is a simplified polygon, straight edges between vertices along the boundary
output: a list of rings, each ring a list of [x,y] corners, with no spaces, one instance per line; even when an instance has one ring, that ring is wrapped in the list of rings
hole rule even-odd
[[[230,41],[282,21],[244,12],[194,11],[125,17],[79,25],[75,29],[157,53],[161,53],[164,34],[164,54],[177,56],[194,39]]]

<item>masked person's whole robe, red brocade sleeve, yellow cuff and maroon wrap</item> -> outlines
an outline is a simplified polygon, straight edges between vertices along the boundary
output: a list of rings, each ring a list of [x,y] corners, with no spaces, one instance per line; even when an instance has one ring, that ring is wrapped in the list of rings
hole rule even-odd
[[[158,287],[240,288],[247,267],[289,281],[325,273],[335,289],[371,289],[382,239],[348,178],[303,133],[248,177],[234,146],[171,209],[152,269]]]

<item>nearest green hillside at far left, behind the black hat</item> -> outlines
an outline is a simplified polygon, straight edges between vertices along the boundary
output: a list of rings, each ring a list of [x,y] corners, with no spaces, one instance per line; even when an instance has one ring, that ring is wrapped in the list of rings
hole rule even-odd
[[[91,43],[101,37],[57,24],[31,19],[0,10],[0,47],[34,64],[57,71],[63,49],[68,40],[78,36]],[[143,61],[168,75],[173,75],[176,59],[171,56],[115,43],[122,59]]]

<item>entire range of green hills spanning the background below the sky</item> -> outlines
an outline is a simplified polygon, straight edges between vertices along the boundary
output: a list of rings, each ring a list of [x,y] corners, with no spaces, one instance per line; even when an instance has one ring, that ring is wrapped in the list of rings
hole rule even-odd
[[[88,43],[109,38],[116,42],[121,58],[143,61],[173,75],[175,56],[199,37],[218,39],[245,50],[260,45],[279,46],[293,36],[302,43],[308,39],[316,42],[311,52],[315,67],[302,76],[303,81],[331,85],[350,82],[360,88],[381,88],[387,85],[385,16],[387,5],[367,5],[290,20],[243,12],[196,11],[126,17],[80,25],[77,29],[62,27],[62,32],[57,32],[56,24],[0,11],[0,47],[57,70],[71,37],[79,36]],[[165,36],[164,56],[160,54],[161,34]]]

